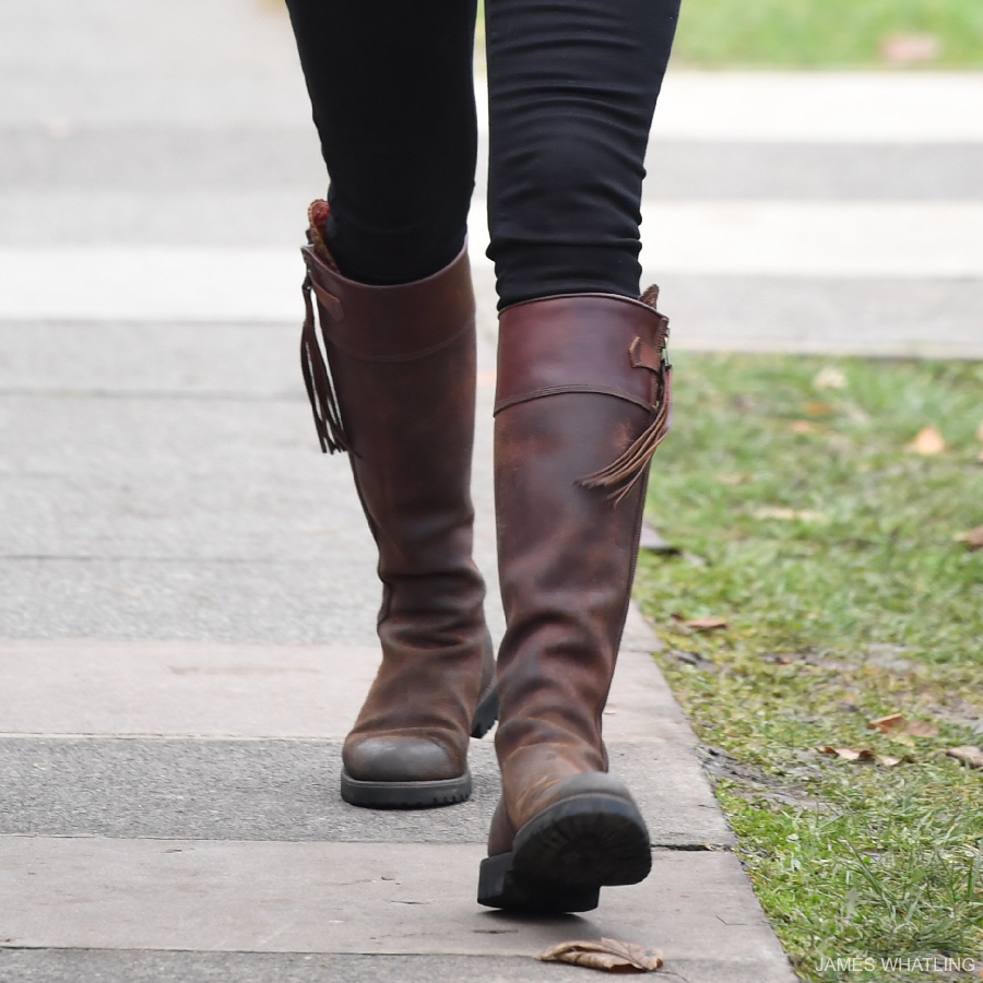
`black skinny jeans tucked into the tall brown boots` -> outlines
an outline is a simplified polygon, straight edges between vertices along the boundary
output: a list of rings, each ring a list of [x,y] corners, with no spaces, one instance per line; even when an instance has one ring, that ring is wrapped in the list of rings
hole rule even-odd
[[[485,0],[499,306],[636,297],[639,204],[679,0]],[[407,283],[466,234],[475,0],[287,0],[341,271]]]

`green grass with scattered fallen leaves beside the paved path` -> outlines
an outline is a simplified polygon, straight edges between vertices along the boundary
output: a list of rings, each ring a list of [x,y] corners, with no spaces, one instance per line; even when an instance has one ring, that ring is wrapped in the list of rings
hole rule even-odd
[[[880,960],[983,968],[983,364],[676,362],[636,595],[758,897],[807,980],[975,979]]]

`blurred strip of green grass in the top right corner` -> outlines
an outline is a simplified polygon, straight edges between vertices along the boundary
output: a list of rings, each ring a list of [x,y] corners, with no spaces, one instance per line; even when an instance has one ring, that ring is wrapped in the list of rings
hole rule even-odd
[[[683,0],[674,63],[701,68],[874,67],[890,63],[885,43],[892,35],[929,36],[922,42],[929,46],[921,52],[924,61],[914,61],[926,68],[983,67],[983,2]],[[903,45],[900,42],[895,55],[901,63],[905,61]]]

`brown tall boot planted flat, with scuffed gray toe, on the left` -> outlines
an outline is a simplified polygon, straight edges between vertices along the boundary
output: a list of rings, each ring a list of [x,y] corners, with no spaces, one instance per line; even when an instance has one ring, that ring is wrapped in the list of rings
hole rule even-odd
[[[485,584],[471,557],[471,269],[462,250],[425,280],[355,283],[321,240],[327,208],[311,205],[301,250],[301,363],[322,450],[350,451],[382,581],[382,665],[345,739],[342,797],[374,808],[462,802],[469,735],[484,735],[498,711]]]

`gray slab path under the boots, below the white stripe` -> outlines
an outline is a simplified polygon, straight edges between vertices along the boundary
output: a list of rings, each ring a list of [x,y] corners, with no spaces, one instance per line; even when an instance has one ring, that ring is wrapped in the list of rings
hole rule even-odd
[[[339,800],[379,589],[347,462],[291,390],[296,327],[0,339],[0,980],[562,980],[531,957],[571,935],[658,945],[690,983],[791,979],[637,612],[605,731],[653,833],[643,886],[585,917],[479,909],[488,742],[466,804]],[[500,633],[492,355],[474,492]]]

